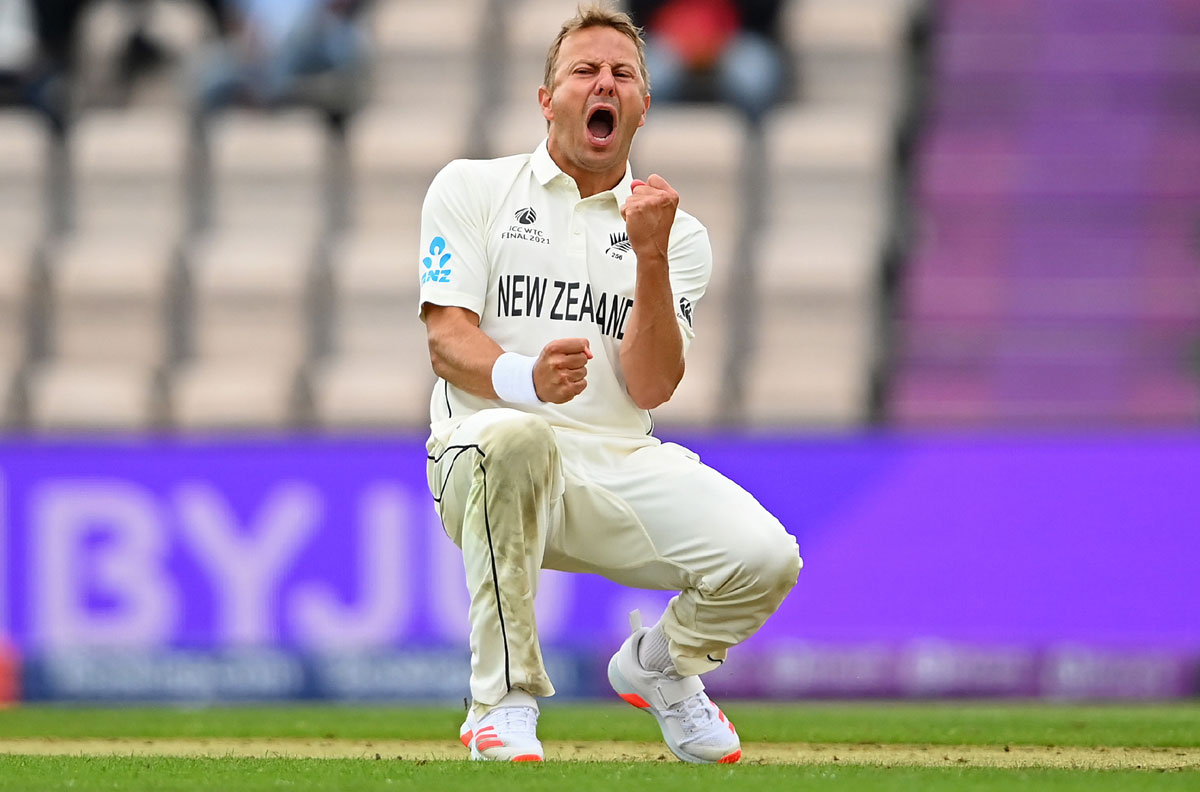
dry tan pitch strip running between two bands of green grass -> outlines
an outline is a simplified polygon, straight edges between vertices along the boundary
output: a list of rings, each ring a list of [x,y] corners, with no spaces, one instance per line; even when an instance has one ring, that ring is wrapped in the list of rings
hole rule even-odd
[[[996,767],[1070,769],[1200,769],[1198,748],[1080,748],[1042,745],[902,745],[857,743],[745,743],[750,764],[871,764],[884,767]],[[286,758],[462,760],[444,740],[356,739],[46,739],[0,740],[0,754],[58,756],[188,756]],[[547,742],[560,761],[676,761],[661,743]]]

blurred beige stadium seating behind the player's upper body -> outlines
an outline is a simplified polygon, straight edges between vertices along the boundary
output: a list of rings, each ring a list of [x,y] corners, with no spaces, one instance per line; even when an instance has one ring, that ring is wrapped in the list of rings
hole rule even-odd
[[[229,110],[212,121],[199,199],[180,85],[206,23],[192,4],[150,2],[143,23],[175,61],[121,94],[112,86],[122,5],[89,13],[70,156],[47,155],[31,115],[0,113],[0,228],[43,236],[38,254],[4,258],[22,258],[4,266],[24,268],[32,286],[24,296],[5,286],[0,300],[34,306],[24,337],[4,328],[0,349],[19,350],[0,360],[0,384],[16,383],[10,422],[420,430],[432,374],[403,262],[419,246],[424,191],[454,157],[524,151],[544,136],[536,86],[576,1],[376,0],[370,102],[344,150],[307,108]],[[634,167],[679,187],[716,262],[688,377],[656,412],[660,426],[877,418],[895,152],[924,10],[790,4],[793,91],[761,138],[726,107],[652,110]],[[55,192],[62,166],[72,190]],[[103,394],[125,412],[103,407]]]

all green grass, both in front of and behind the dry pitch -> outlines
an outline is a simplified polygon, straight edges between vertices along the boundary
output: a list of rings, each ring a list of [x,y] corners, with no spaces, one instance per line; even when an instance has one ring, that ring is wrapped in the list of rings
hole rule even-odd
[[[1200,745],[1200,703],[1055,706],[1045,703],[727,702],[744,740],[1180,746]],[[310,737],[437,739],[452,743],[452,707],[20,707],[0,712],[0,739]],[[652,719],[624,704],[547,702],[546,740],[656,740]],[[968,767],[758,766],[695,767],[664,762],[547,762],[496,766],[395,760],[175,758],[0,756],[7,790],[253,792],[257,790],[431,790],[470,792],[655,792],[720,787],[721,792],[821,790],[931,792],[1046,790],[1106,792],[1196,790],[1200,773],[1150,770],[991,769]]]

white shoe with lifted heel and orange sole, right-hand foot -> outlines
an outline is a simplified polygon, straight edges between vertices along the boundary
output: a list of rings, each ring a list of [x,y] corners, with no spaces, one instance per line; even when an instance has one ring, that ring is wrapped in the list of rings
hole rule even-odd
[[[671,752],[684,762],[731,764],[742,758],[733,724],[704,694],[700,677],[671,677],[647,671],[637,647],[649,630],[635,626],[608,661],[608,682],[622,698],[659,721]]]

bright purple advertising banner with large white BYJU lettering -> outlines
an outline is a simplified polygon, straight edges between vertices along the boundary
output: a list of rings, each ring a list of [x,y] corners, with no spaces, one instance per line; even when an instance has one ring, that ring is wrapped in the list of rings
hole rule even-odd
[[[799,538],[800,582],[745,648],[797,690],[1200,653],[1200,434],[678,439]],[[0,635],[25,654],[466,646],[419,438],[8,442],[0,499]],[[546,574],[540,628],[606,654],[667,599]]]

